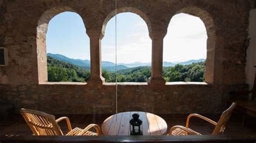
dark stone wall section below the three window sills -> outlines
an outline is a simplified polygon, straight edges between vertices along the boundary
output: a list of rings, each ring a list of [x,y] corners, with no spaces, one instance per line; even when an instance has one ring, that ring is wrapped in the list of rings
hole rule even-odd
[[[118,85],[118,112],[147,111],[170,113],[220,113],[230,103],[228,92],[241,85],[219,87],[205,84]],[[5,101],[21,108],[38,109],[55,114],[111,114],[116,112],[113,85],[1,85]]]

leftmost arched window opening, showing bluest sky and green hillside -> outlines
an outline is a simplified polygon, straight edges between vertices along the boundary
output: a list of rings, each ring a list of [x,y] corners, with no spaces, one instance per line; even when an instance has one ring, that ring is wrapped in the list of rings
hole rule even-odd
[[[48,82],[86,82],[90,77],[90,39],[75,12],[53,17],[46,33]]]

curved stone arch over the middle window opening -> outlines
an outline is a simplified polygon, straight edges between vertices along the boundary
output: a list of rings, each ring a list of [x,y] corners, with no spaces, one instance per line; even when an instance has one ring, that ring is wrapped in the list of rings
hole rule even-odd
[[[123,13],[123,12],[131,12],[131,13],[135,13],[138,16],[140,16],[144,22],[147,24],[147,29],[149,30],[149,33],[151,33],[151,24],[150,24],[150,20],[149,18],[146,16],[146,14],[142,11],[140,11],[137,8],[133,8],[133,7],[123,7],[123,8],[118,8],[117,9],[117,14],[118,13]],[[103,25],[102,25],[102,34],[104,35],[105,33],[105,28],[107,25],[107,22],[109,22],[109,20],[114,17],[114,15],[116,15],[116,10],[113,10],[109,13],[109,15],[107,15],[107,17],[105,18]]]

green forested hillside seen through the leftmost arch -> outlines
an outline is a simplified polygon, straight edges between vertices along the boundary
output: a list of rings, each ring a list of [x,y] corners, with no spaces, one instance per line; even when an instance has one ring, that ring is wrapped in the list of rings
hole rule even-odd
[[[79,68],[70,63],[47,57],[49,82],[86,82],[90,77],[90,71]]]

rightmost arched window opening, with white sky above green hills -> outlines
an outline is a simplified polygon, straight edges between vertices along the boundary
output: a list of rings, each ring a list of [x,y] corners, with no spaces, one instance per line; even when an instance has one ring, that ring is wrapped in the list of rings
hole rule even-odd
[[[166,82],[204,82],[207,32],[196,16],[172,17],[164,38],[163,77]]]

